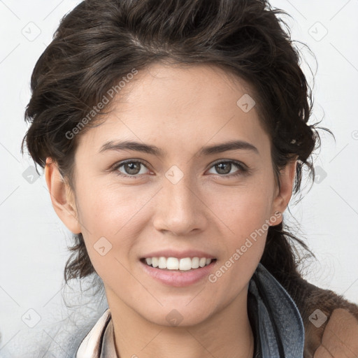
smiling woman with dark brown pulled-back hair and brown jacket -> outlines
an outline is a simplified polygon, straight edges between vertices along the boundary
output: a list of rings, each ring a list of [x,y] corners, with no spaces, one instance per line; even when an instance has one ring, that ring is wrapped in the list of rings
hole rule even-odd
[[[284,230],[319,136],[279,13],[83,1],[38,60],[24,141],[75,234],[66,282],[108,300],[76,357],[355,357],[357,306]]]

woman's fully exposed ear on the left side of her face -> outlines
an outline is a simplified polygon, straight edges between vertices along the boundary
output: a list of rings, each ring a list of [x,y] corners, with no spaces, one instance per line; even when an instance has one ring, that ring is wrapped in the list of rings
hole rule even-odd
[[[73,192],[50,157],[46,159],[45,180],[57,216],[73,234],[79,234],[81,229]]]

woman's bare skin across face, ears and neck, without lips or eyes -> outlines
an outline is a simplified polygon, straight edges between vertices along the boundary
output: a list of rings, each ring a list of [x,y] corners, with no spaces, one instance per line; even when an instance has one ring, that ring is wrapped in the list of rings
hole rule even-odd
[[[117,98],[103,123],[79,138],[74,192],[50,158],[45,166],[57,215],[73,233],[83,233],[103,280],[117,355],[252,357],[247,292],[266,231],[215,283],[204,278],[187,287],[167,286],[145,273],[139,259],[159,249],[196,249],[216,257],[216,270],[265,220],[283,213],[296,162],[280,171],[279,191],[270,138],[257,110],[254,106],[244,113],[236,105],[245,93],[253,97],[250,87],[222,69],[157,63],[139,72],[123,91],[125,98]],[[203,146],[238,139],[255,145],[258,153],[198,155]],[[99,153],[106,141],[122,140],[156,145],[166,154]],[[108,170],[124,159],[146,164],[136,178],[117,176],[130,175],[124,166]],[[226,172],[217,170],[213,163],[218,159],[241,162],[250,173],[234,164]],[[165,176],[173,165],[183,174],[176,184]],[[240,175],[226,178],[229,173]],[[103,236],[112,248],[101,256],[94,244]],[[182,317],[178,327],[166,320],[173,309]]]

